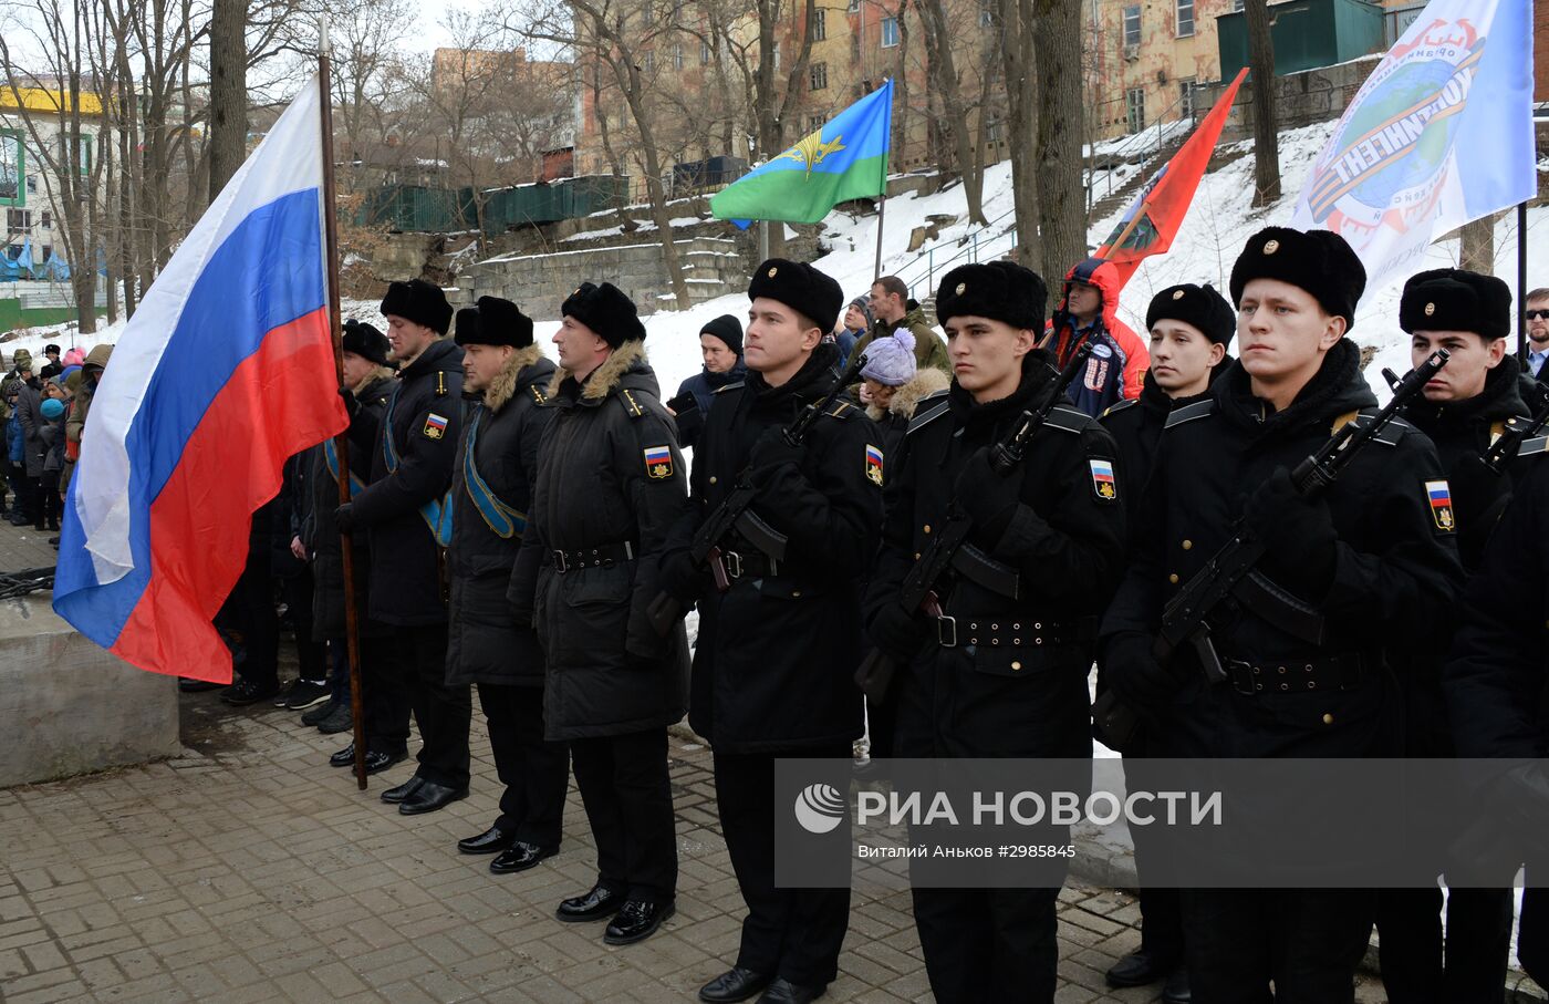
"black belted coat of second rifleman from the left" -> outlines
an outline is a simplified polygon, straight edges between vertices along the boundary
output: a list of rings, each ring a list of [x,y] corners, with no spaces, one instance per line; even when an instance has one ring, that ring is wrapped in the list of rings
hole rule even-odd
[[[946,521],[957,476],[979,449],[1005,437],[1036,407],[1055,370],[1027,355],[1021,386],[979,404],[956,383],[920,403],[889,473],[881,556],[866,592],[874,641],[888,648],[878,615],[898,604],[905,576]],[[1021,598],[957,578],[943,598],[951,632],[929,621],[923,646],[900,666],[897,756],[1090,755],[1087,672],[1097,618],[1123,562],[1123,471],[1112,437],[1073,407],[1058,406],[1030,442],[1019,505],[994,539],[971,538],[1019,576]],[[917,615],[923,620],[923,615]]]

